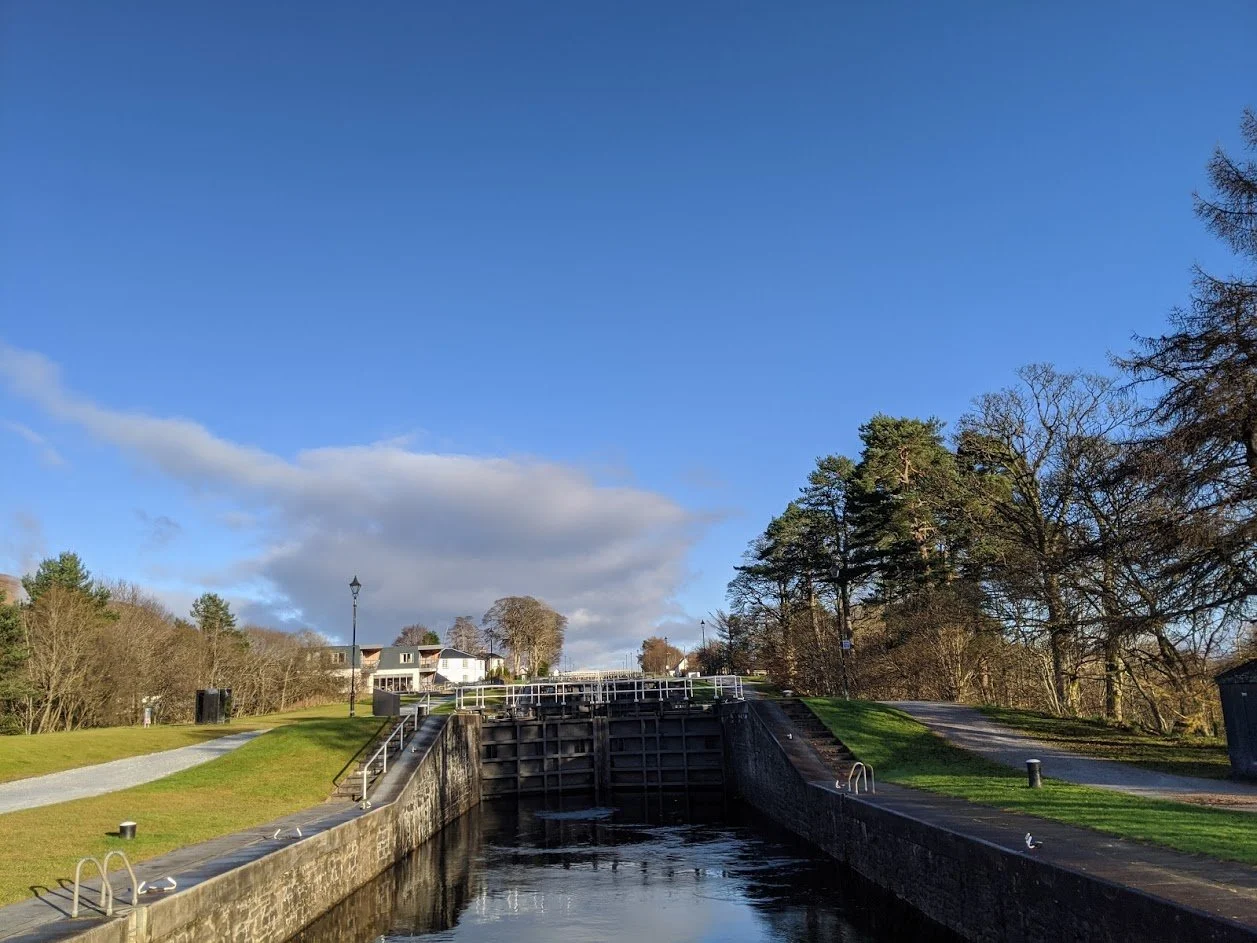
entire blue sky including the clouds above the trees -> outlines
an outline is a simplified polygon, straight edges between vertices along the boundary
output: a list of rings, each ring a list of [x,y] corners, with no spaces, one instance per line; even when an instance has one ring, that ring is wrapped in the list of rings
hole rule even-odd
[[[1190,194],[1254,41],[1239,0],[3,4],[0,571],[684,635],[871,414],[1102,368],[1226,268]]]

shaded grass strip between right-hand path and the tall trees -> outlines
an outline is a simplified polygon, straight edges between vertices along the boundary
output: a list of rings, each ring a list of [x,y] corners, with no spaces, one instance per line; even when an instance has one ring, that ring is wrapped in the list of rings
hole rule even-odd
[[[1023,731],[1055,747],[1089,757],[1120,759],[1131,766],[1179,776],[1231,777],[1231,759],[1223,739],[1207,737],[1153,737],[1104,720],[1052,717],[1033,710],[979,708],[992,720]]]

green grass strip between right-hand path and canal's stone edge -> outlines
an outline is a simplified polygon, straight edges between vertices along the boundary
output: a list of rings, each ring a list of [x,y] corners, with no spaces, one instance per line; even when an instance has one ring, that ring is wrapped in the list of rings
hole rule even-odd
[[[807,703],[877,778],[1036,815],[1178,851],[1257,864],[1251,812],[1164,802],[1057,780],[1026,786],[1019,769],[953,747],[901,710],[870,702],[811,698]]]

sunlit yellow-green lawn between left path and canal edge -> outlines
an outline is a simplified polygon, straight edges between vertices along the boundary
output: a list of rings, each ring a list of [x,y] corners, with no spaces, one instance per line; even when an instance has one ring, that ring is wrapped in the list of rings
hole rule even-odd
[[[280,725],[220,759],[121,792],[0,815],[0,904],[31,896],[31,885],[73,880],[83,855],[121,847],[140,861],[318,805],[388,723],[343,714],[342,704],[272,715]],[[109,837],[128,819],[138,824],[134,841]]]

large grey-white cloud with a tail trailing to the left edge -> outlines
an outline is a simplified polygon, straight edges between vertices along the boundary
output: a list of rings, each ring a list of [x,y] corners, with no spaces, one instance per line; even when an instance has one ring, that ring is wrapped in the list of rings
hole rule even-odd
[[[349,577],[363,590],[360,639],[391,641],[416,619],[483,614],[530,593],[572,617],[577,664],[615,663],[678,615],[672,596],[699,517],[665,495],[600,485],[569,465],[414,451],[392,440],[316,448],[292,460],[202,425],[106,409],[70,392],[39,353],[0,345],[0,376],[52,417],[78,425],[230,505],[265,551],[225,567],[259,586],[245,615],[299,614],[348,631]]]

